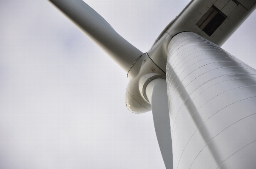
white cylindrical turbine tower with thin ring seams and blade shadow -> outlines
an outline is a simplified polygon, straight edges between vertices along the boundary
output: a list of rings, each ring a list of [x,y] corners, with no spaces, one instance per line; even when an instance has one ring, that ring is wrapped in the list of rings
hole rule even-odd
[[[174,169],[255,169],[256,70],[191,32],[167,62]]]

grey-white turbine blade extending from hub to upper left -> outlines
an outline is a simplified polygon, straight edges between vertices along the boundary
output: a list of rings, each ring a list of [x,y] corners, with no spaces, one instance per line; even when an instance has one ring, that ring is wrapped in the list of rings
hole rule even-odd
[[[104,50],[125,72],[143,53],[120,36],[82,0],[49,0]]]

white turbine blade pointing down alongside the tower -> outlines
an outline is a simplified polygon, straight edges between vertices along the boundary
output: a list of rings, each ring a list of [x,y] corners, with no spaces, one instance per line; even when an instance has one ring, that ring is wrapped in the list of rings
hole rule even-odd
[[[152,106],[157,141],[166,169],[173,169],[171,127],[165,79],[155,79],[146,88]]]

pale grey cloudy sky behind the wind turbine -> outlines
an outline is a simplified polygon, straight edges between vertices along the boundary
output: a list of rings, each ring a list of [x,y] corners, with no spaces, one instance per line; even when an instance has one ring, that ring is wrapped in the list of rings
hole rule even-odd
[[[87,1],[147,52],[189,0]],[[222,46],[256,68],[256,12]],[[48,1],[0,0],[0,168],[163,169],[126,73]]]

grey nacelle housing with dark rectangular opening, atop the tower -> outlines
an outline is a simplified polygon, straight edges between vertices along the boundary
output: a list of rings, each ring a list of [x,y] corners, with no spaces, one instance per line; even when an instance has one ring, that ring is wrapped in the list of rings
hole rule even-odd
[[[220,0],[191,0],[189,5],[181,12],[181,14],[179,14],[174,21],[172,21],[162,31],[162,33],[160,33],[156,42],[148,51],[148,55],[156,65],[159,66],[159,68],[164,72],[166,71],[168,44],[176,34],[181,32],[193,32],[199,34],[205,39],[208,39],[210,42],[221,46],[256,8],[256,5],[254,4],[251,6],[250,10],[247,10],[241,4],[238,5],[236,0],[225,0],[223,4],[220,4],[219,1]],[[216,8],[223,10],[226,14],[226,19],[218,26],[213,34],[209,36],[200,29],[196,23],[209,10],[209,8],[214,6],[215,3],[217,4]],[[235,3],[237,5],[236,7],[234,6]]]

